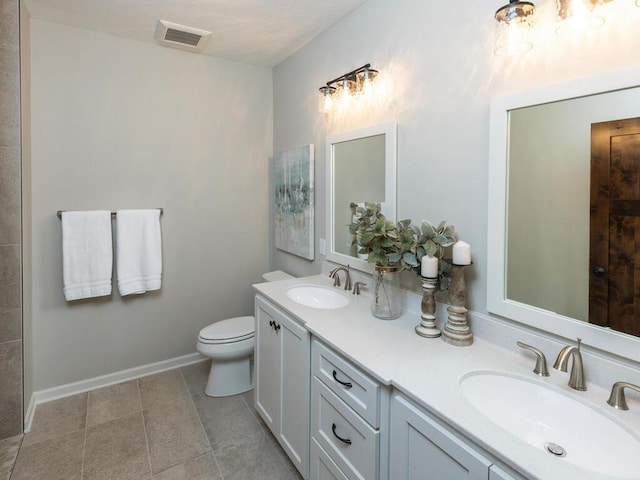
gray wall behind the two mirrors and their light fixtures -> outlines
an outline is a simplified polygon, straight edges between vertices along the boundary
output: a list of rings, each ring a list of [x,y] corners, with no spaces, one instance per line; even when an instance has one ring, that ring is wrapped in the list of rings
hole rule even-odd
[[[274,70],[274,148],[316,145],[316,235],[325,236],[327,133],[396,120],[398,218],[446,220],[471,245],[468,305],[486,311],[489,105],[493,96],[638,65],[638,9],[612,2],[616,18],[586,38],[553,33],[553,2],[536,2],[546,36],[519,58],[492,54],[493,13],[504,1],[369,0]],[[621,47],[621,45],[623,47]],[[377,104],[324,117],[317,89],[370,62],[386,82]],[[318,245],[318,241],[316,241]],[[273,251],[274,268],[318,273]]]

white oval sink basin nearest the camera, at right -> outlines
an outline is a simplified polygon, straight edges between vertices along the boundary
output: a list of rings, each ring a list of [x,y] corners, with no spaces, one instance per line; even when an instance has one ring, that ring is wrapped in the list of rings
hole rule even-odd
[[[560,462],[611,478],[640,475],[640,438],[568,395],[498,372],[467,374],[460,387],[487,418]]]

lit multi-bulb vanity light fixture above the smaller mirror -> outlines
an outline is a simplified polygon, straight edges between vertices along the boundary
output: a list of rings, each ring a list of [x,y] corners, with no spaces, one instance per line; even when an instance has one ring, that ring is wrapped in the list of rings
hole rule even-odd
[[[326,85],[318,89],[318,110],[321,113],[329,113],[336,108],[337,102],[341,106],[346,106],[353,98],[359,95],[368,95],[377,76],[378,71],[373,70],[371,64],[367,63],[328,81]]]

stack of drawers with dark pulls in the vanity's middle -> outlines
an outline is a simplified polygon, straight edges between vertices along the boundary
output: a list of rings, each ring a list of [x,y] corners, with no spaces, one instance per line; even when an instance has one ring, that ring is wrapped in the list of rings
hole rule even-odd
[[[310,478],[386,479],[388,391],[316,339],[311,368]]]

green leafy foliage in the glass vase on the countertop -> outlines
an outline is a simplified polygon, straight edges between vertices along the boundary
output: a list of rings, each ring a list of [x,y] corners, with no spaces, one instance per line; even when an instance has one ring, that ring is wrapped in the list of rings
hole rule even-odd
[[[442,256],[446,247],[456,241],[453,225],[440,222],[436,227],[427,221],[419,226],[411,220],[397,224],[386,219],[377,203],[365,203],[356,208],[355,221],[349,225],[352,245],[358,253],[367,254],[369,263],[381,266],[398,266],[401,270],[413,269],[420,274],[420,259],[425,255],[438,257],[440,288],[449,286],[451,269]]]

